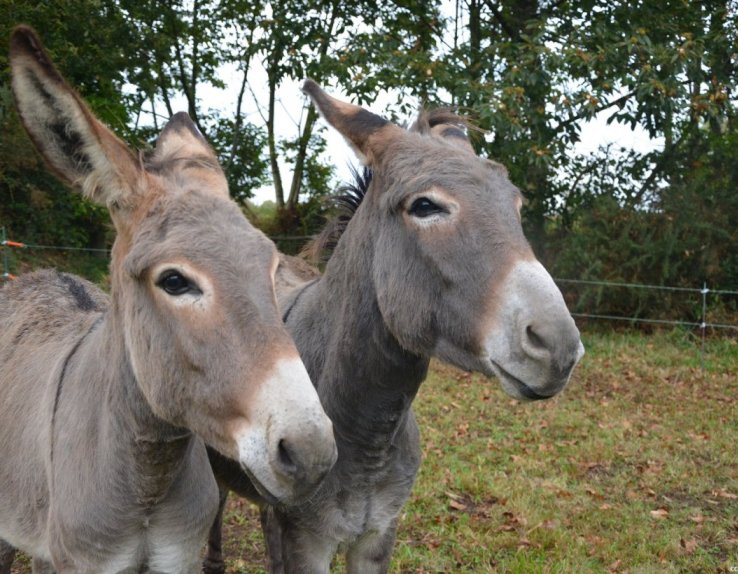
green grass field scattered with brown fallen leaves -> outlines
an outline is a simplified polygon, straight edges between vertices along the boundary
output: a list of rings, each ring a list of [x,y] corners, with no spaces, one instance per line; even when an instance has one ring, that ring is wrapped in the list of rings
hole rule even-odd
[[[584,342],[570,387],[541,403],[434,364],[392,572],[738,571],[738,342],[708,340],[704,372],[683,332]],[[229,572],[263,572],[245,501],[226,538]]]

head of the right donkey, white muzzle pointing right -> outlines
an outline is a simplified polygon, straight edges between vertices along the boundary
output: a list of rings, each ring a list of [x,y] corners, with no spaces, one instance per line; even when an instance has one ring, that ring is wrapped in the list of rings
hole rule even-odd
[[[563,389],[584,348],[523,235],[505,168],[474,153],[452,114],[408,131],[310,80],[303,89],[371,167],[346,234],[370,238],[377,303],[400,345],[497,375],[516,398]]]

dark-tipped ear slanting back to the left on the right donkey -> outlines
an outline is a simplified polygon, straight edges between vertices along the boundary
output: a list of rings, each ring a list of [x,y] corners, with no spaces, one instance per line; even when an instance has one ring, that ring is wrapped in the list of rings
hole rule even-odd
[[[313,80],[305,80],[302,91],[367,165],[379,161],[387,143],[404,133],[395,124],[360,106],[329,96]]]

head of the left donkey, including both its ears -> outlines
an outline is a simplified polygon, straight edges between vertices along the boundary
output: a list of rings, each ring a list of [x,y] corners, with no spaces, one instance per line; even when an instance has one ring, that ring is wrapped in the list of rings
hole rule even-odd
[[[213,150],[177,114],[155,151],[137,157],[31,29],[15,30],[10,57],[39,151],[115,225],[113,342],[101,371],[123,357],[158,419],[239,460],[265,495],[291,499],[316,486],[335,462],[332,425],[277,311],[274,245],[229,198]]]

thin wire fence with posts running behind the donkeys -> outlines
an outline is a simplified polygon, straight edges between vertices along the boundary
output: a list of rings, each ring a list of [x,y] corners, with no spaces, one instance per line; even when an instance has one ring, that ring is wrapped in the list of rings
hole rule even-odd
[[[9,250],[10,249],[40,249],[40,250],[58,250],[58,251],[77,251],[77,252],[90,252],[90,253],[106,253],[110,255],[107,249],[94,249],[84,247],[67,247],[58,245],[40,245],[34,243],[23,243],[20,241],[12,241],[8,239],[6,229],[3,227],[0,233],[0,247],[3,249],[3,273],[2,279],[8,280],[13,279],[15,276],[10,272],[10,261],[9,261]],[[299,236],[272,236],[270,237],[273,241],[299,241],[304,242],[312,239],[312,236],[299,235]],[[705,337],[708,330],[717,331],[730,331],[738,334],[738,325],[713,322],[709,320],[710,311],[710,300],[708,296],[713,297],[738,297],[738,291],[726,290],[726,289],[711,289],[707,283],[703,283],[701,288],[698,287],[673,287],[668,285],[647,285],[641,283],[627,283],[618,281],[599,281],[589,279],[555,279],[556,283],[562,285],[585,285],[589,287],[601,287],[606,289],[634,289],[634,290],[652,290],[662,292],[673,292],[673,293],[684,293],[697,295],[701,299],[701,317],[700,320],[684,320],[684,319],[665,319],[660,317],[642,317],[642,316],[624,316],[624,315],[612,315],[605,313],[583,313],[583,312],[572,312],[574,317],[582,319],[592,319],[597,321],[614,321],[614,322],[625,322],[632,325],[636,324],[652,324],[652,325],[663,325],[682,327],[689,329],[696,329],[700,331],[702,341],[702,360],[704,361],[704,346]]]

